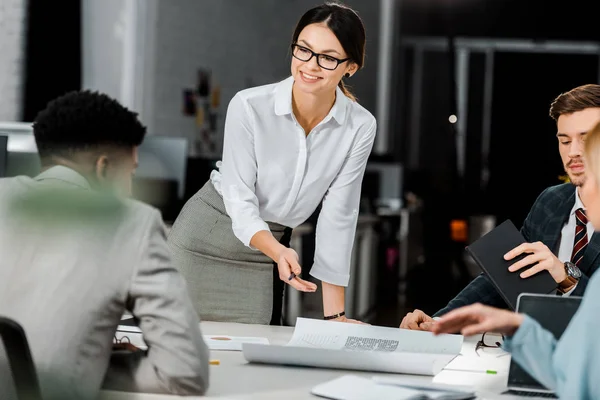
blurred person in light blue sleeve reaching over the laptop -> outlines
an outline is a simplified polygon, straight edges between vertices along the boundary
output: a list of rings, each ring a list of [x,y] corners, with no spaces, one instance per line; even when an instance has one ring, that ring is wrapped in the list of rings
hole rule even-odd
[[[587,215],[600,227],[600,124],[588,132],[585,142],[587,179],[582,196]],[[560,398],[600,398],[600,276],[594,275],[569,326],[556,340],[552,333],[524,314],[474,304],[459,308],[433,323],[435,334],[461,332],[473,335],[498,332],[508,335],[504,348],[543,385]]]

